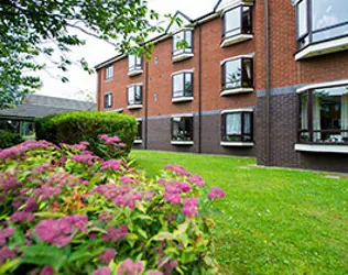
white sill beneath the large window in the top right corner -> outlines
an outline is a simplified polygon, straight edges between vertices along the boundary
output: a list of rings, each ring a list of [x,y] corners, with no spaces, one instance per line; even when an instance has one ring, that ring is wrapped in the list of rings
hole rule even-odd
[[[309,44],[295,54],[295,61],[348,50],[348,36],[331,41]]]

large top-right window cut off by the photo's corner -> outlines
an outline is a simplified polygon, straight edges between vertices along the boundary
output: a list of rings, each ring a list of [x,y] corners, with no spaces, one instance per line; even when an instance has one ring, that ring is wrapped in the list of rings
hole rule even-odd
[[[348,35],[346,0],[301,0],[296,4],[297,44],[312,43]]]

